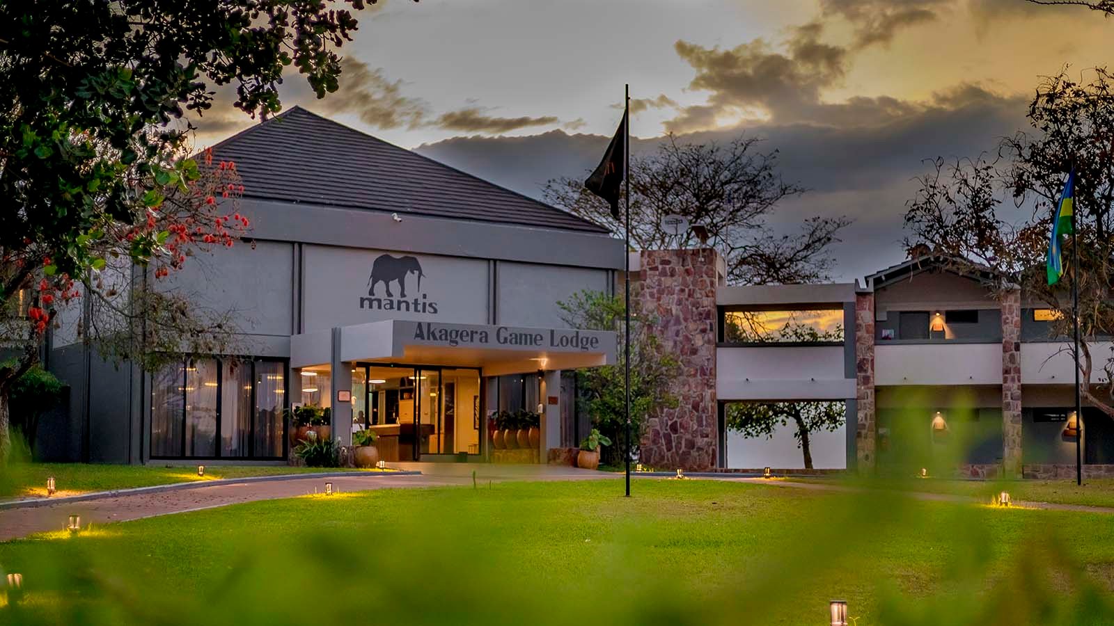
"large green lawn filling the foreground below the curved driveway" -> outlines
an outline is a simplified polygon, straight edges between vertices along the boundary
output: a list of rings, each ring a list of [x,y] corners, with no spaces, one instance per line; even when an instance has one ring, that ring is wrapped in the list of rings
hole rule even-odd
[[[10,541],[27,596],[0,624],[820,625],[831,598],[857,626],[1114,623],[1112,516],[703,480],[634,495],[392,489]]]

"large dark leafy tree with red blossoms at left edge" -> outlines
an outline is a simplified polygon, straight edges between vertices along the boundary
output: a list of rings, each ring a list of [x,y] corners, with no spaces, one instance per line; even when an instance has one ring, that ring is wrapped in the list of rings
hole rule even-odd
[[[237,108],[277,111],[290,65],[317,97],[334,91],[335,48],[356,28],[348,6],[363,0],[0,3],[0,339],[19,354],[0,366],[0,463],[8,394],[60,305],[84,295],[117,321],[144,320],[133,333],[140,341],[115,343],[127,356],[147,354],[163,321],[177,336],[159,335],[159,348],[201,348],[194,340],[219,334],[189,319],[188,302],[110,293],[128,284],[106,286],[105,274],[130,277],[135,263],[163,277],[196,247],[238,236],[246,223],[218,208],[241,188],[234,168],[203,172],[184,158],[192,128],[174,120],[183,109],[203,114],[213,87],[231,82]]]

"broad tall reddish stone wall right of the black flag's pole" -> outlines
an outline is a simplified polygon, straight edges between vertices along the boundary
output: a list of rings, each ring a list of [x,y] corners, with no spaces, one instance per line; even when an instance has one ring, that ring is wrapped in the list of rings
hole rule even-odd
[[[646,421],[643,463],[711,470],[716,466],[715,290],[720,257],[713,250],[643,251],[632,276],[634,310],[657,317],[663,345],[681,361],[671,391],[678,404]],[[636,281],[635,281],[636,278]],[[620,343],[622,350],[622,343]]]

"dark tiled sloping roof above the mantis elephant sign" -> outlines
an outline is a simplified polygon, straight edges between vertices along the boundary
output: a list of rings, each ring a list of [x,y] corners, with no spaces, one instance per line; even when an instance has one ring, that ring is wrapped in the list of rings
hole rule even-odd
[[[293,107],[213,146],[244,197],[607,233],[603,226]]]

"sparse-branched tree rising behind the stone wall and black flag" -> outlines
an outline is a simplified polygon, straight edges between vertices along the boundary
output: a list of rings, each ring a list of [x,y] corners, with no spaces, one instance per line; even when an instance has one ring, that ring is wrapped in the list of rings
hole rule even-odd
[[[829,246],[846,217],[812,217],[795,235],[774,234],[766,221],[786,197],[802,194],[778,174],[778,151],[760,153],[760,140],[739,137],[682,144],[674,135],[648,156],[631,157],[631,242],[643,250],[705,245],[695,229],[674,235],[662,226],[666,215],[683,215],[707,232],[707,245],[727,262],[735,284],[818,282],[832,266]],[[610,207],[584,188],[580,178],[549,180],[545,199],[592,219],[622,236],[625,224]]]

